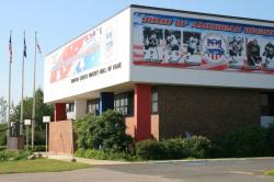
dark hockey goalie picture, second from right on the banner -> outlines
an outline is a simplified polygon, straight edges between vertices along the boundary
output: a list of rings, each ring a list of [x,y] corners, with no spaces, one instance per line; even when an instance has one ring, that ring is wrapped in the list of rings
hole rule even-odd
[[[261,69],[262,57],[260,55],[260,45],[258,39],[252,39],[247,45],[247,68]]]

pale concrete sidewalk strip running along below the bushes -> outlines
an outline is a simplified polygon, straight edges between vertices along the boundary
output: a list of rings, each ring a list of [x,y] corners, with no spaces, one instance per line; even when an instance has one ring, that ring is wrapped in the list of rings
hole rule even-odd
[[[48,157],[49,159],[71,161],[72,156],[67,153],[46,153],[39,152],[43,157]],[[98,160],[98,159],[87,159],[77,158],[77,162],[89,163],[92,166],[110,166],[110,164],[141,164],[141,163],[168,163],[168,162],[207,162],[207,161],[244,161],[249,159],[253,160],[274,160],[274,157],[256,157],[256,158],[222,158],[222,159],[180,159],[180,160],[147,160],[147,161],[117,161],[117,160]]]

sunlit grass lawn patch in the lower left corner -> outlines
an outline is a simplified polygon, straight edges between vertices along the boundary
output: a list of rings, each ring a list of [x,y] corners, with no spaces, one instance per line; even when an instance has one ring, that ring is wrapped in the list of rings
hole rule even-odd
[[[0,174],[26,172],[58,172],[90,168],[90,164],[54,159],[19,160],[0,162]]]

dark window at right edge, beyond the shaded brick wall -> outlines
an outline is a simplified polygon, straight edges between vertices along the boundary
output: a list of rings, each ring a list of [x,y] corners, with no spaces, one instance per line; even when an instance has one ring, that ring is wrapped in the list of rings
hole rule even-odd
[[[261,115],[274,116],[274,94],[261,93]]]

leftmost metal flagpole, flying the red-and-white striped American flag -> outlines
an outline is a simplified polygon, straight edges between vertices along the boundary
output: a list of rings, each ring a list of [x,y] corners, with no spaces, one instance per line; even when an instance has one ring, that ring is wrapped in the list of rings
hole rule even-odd
[[[12,32],[10,31],[10,45],[9,45],[9,49],[10,49],[10,67],[9,67],[9,95],[8,95],[8,129],[7,129],[7,145],[9,141],[9,137],[10,137],[10,127],[11,127],[11,121],[10,121],[10,113],[11,113],[11,62],[12,62],[12,43],[11,43],[11,35]]]

